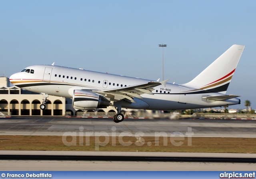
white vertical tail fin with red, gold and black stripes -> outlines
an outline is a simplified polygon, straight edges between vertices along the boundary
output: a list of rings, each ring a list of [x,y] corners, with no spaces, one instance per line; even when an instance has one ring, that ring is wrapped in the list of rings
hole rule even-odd
[[[226,93],[244,46],[233,45],[192,81],[183,84],[212,92]]]

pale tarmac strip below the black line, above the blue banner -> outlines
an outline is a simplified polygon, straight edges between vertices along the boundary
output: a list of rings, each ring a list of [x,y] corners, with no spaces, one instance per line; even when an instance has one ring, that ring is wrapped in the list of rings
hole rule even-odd
[[[2,171],[254,171],[254,163],[0,160]]]

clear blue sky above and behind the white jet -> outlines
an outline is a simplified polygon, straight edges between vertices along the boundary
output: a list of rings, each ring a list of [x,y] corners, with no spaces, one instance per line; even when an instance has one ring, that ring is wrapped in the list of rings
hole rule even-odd
[[[0,1],[0,74],[52,64],[184,84],[245,45],[227,94],[256,109],[254,0]]]

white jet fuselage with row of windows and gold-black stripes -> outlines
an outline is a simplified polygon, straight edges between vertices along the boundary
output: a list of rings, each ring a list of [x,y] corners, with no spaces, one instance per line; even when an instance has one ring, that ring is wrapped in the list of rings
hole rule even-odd
[[[150,82],[140,78],[131,78],[83,69],[52,65],[29,66],[30,73],[19,72],[10,76],[10,82],[22,89],[37,93],[46,93],[60,97],[72,98],[74,90],[103,90],[122,88]],[[33,70],[33,73],[31,73]],[[166,84],[154,87],[154,95],[144,93],[142,99],[134,97],[136,103],[122,103],[122,107],[131,109],[178,110],[206,107],[219,107],[240,103],[238,98],[224,101],[203,99],[207,96],[219,96],[215,93],[178,84]],[[96,92],[95,92],[96,93]],[[110,101],[116,101],[105,95]]]

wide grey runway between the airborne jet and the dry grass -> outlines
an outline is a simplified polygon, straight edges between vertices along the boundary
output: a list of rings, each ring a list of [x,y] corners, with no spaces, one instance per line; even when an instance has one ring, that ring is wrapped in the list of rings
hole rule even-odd
[[[191,132],[192,137],[256,137],[256,120],[235,119],[125,119],[111,118],[12,117],[0,119],[0,135],[63,135],[65,132],[106,132],[109,136],[129,132],[154,136]]]

